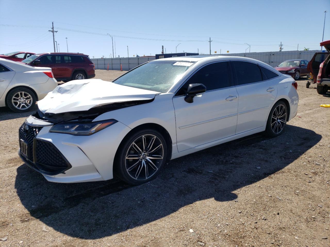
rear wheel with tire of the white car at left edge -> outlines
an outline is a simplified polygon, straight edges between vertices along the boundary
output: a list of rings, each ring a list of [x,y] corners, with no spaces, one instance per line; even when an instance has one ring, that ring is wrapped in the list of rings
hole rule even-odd
[[[12,100],[17,100],[17,105],[16,101],[13,102]],[[14,112],[28,112],[34,107],[36,101],[36,95],[30,89],[23,87],[15,88],[9,91],[6,97],[6,105]],[[22,109],[19,109],[19,106],[21,106]]]

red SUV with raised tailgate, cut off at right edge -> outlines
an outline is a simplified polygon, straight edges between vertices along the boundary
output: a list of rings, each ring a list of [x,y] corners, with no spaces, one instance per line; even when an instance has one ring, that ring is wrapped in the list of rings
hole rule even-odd
[[[317,93],[326,94],[330,89],[330,40],[321,42],[320,46],[324,46],[328,52],[316,52],[308,69],[313,74]]]

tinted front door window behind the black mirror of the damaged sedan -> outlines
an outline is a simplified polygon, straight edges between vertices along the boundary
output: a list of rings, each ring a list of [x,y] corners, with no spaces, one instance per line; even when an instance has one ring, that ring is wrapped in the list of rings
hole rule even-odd
[[[217,62],[199,69],[178,91],[176,96],[187,94],[189,84],[202,83],[206,91],[230,87],[228,62]]]

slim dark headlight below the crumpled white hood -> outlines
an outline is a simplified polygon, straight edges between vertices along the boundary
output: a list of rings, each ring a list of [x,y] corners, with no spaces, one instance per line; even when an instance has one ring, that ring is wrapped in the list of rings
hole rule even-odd
[[[117,123],[117,120],[103,120],[97,122],[67,122],[55,124],[49,132],[65,133],[71,135],[91,135],[112,124]]]

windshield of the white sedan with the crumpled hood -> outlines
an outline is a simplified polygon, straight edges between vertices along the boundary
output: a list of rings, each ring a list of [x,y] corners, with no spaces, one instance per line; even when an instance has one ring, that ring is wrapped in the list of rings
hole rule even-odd
[[[151,61],[122,75],[115,81],[123,86],[166,93],[193,62]]]

